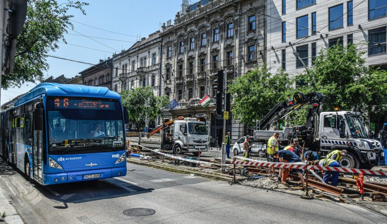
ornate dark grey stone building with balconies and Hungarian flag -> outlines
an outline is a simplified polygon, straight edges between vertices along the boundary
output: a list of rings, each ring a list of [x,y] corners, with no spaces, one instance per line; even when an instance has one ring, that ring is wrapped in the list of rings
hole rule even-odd
[[[174,25],[162,26],[162,94],[178,106],[169,118],[200,118],[218,138],[223,120],[213,103],[199,104],[206,94],[214,98],[219,69],[232,81],[265,61],[265,1],[202,0],[176,14]],[[244,126],[232,120],[233,139],[244,135]]]

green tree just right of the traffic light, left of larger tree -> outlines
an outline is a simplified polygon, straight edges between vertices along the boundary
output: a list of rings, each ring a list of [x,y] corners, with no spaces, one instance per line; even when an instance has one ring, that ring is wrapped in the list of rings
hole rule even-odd
[[[271,74],[264,65],[238,77],[228,85],[234,95],[232,113],[246,126],[253,126],[279,102],[291,94],[291,79],[283,70]]]

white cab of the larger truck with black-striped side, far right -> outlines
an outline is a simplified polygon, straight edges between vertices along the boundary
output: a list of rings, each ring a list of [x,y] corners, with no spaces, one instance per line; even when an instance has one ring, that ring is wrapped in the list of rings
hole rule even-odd
[[[375,165],[381,149],[379,141],[367,138],[360,113],[352,111],[321,112],[318,119],[320,154],[325,156],[332,150],[346,149],[340,163],[343,167],[358,168]],[[319,140],[319,141],[317,141]]]

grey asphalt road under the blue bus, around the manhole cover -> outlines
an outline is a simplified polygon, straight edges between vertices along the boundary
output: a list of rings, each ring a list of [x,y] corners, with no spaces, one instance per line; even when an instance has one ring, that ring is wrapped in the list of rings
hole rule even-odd
[[[0,160],[0,187],[26,223],[387,223],[387,218],[352,205],[130,163],[122,179],[42,187]],[[124,215],[130,208],[156,212]]]

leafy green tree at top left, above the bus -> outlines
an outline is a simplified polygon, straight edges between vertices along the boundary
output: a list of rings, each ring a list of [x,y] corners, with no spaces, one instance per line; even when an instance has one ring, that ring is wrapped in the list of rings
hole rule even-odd
[[[54,0],[29,0],[27,4],[27,18],[16,41],[14,72],[4,77],[4,89],[41,81],[43,72],[49,68],[46,54],[59,48],[58,41],[66,43],[63,34],[73,29],[69,10],[79,9],[86,15],[83,7],[89,5],[72,0],[63,4]]]

